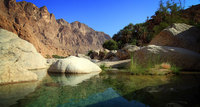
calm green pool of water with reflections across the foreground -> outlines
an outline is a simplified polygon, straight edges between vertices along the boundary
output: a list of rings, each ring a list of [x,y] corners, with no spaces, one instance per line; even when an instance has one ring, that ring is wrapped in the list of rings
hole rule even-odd
[[[199,74],[50,74],[42,82],[0,86],[1,107],[199,107],[199,99]]]

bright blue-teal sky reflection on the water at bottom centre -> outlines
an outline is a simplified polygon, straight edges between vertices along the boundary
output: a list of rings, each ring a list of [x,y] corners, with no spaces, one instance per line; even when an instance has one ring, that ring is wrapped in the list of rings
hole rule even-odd
[[[58,105],[58,107],[148,107],[137,101],[128,101],[121,97],[112,88],[106,89],[102,93],[96,93],[86,99],[81,99],[78,102],[70,102]]]

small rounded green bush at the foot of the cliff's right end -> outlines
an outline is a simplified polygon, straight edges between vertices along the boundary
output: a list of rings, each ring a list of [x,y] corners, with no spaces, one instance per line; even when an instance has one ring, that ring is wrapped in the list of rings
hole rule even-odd
[[[103,47],[109,50],[117,50],[118,43],[114,40],[107,40],[104,42]]]

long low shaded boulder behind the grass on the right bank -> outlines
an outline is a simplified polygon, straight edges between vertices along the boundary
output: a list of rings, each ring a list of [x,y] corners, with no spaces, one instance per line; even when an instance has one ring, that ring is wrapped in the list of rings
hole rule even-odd
[[[185,70],[200,70],[200,54],[184,48],[149,45],[135,52],[134,58],[141,64],[158,60]]]

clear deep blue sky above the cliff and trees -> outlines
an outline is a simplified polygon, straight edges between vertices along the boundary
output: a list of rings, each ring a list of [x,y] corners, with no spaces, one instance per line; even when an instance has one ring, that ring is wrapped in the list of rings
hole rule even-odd
[[[16,0],[23,1],[23,0]],[[110,36],[129,23],[142,23],[152,16],[160,0],[25,0],[38,7],[46,6],[56,19],[79,21]],[[200,0],[186,0],[186,7]]]

